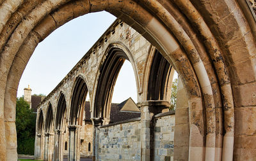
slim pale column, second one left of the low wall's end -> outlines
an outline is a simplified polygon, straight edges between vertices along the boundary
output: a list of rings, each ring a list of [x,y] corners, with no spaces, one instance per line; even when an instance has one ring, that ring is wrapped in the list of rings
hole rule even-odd
[[[62,138],[61,138],[61,130],[55,129],[55,138],[54,138],[54,161],[62,161]]]

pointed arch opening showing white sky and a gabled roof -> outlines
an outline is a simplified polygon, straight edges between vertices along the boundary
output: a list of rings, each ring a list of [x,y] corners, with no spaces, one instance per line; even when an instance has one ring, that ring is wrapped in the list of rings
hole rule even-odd
[[[136,78],[129,60],[124,61],[113,86],[109,123],[140,118],[140,108],[136,104],[138,95]]]

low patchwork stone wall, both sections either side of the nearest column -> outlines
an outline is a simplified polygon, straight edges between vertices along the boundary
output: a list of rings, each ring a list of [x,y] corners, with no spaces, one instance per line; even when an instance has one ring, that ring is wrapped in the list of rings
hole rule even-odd
[[[154,160],[173,160],[174,112],[154,116]],[[141,160],[140,118],[99,129],[99,160]]]

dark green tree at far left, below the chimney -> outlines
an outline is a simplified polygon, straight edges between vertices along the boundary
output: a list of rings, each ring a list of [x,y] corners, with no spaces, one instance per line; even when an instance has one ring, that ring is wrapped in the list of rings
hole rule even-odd
[[[16,102],[17,152],[34,155],[36,114],[23,97]]]

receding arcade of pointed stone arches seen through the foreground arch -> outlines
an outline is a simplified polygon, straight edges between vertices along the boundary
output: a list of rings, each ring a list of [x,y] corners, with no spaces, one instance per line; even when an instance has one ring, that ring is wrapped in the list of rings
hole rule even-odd
[[[125,59],[131,62],[134,69],[137,91],[147,94],[138,95],[138,106],[146,112],[142,111],[143,119],[109,124],[111,113],[115,112],[111,108],[113,86]],[[154,46],[129,25],[116,20],[38,106],[35,157],[44,160],[63,160],[66,150],[64,143],[67,142],[68,160],[79,160],[80,153],[88,152],[88,148],[80,148],[84,136],[90,137],[90,143],[94,138],[93,154],[90,154],[97,160],[140,160],[141,157],[148,160],[149,155],[143,155],[141,148],[153,149],[151,145],[147,147],[149,144],[155,144],[156,158],[162,157],[164,160],[164,157],[173,157],[171,151],[173,152],[174,115],[157,115],[162,111],[168,111],[170,107],[173,73],[173,67]],[[148,80],[150,78],[154,79]],[[91,126],[83,122],[86,115],[84,107],[87,93],[90,96],[90,107],[102,107],[95,109],[94,115],[92,108],[91,112],[87,111],[92,113],[93,134],[92,130],[88,129],[88,126]],[[134,102],[127,99],[123,103]],[[149,113],[152,115],[148,115]],[[150,125],[152,116],[156,120],[153,124],[157,127]],[[155,128],[156,141],[151,141],[148,139],[147,131]],[[161,141],[166,142],[162,143],[165,148],[160,147]],[[166,154],[162,154],[161,151]]]

